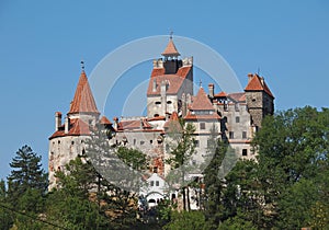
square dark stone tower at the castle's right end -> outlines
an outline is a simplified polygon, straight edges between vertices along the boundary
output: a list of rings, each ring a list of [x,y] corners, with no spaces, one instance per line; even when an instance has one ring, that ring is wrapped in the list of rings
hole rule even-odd
[[[264,78],[252,73],[248,74],[248,84],[245,92],[251,125],[256,128],[261,127],[263,117],[274,113],[274,96]]]

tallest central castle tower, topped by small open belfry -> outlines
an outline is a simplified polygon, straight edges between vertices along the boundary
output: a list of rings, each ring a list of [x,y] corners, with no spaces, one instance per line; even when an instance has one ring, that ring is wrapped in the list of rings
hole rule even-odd
[[[147,90],[147,117],[166,117],[179,112],[182,115],[182,99],[193,95],[193,58],[180,59],[172,36],[161,54],[154,60],[154,69]]]

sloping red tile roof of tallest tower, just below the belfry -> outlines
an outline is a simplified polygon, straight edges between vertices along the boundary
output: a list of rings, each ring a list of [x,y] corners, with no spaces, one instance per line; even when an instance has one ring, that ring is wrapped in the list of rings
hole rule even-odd
[[[162,70],[158,69],[152,71],[151,80],[148,83],[147,95],[160,95],[161,82],[168,82],[167,94],[177,94],[181,89],[186,76],[191,71],[192,67],[181,67],[175,74],[161,74]],[[161,71],[160,71],[161,70]],[[159,73],[156,76],[156,73]],[[156,91],[154,92],[154,83],[156,81]]]

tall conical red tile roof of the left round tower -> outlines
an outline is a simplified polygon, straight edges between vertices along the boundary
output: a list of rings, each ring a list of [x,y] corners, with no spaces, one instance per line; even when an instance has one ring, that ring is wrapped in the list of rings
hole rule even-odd
[[[73,101],[68,114],[94,113],[100,114],[94,102],[84,71],[81,72]]]

